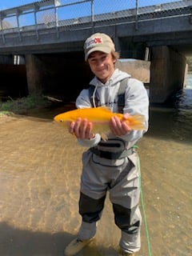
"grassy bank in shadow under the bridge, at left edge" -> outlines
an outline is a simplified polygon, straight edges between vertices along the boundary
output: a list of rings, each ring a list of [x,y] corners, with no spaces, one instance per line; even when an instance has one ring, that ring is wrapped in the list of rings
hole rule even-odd
[[[26,114],[28,110],[46,106],[50,106],[50,101],[41,94],[30,94],[17,99],[10,98],[6,102],[0,101],[0,116]]]

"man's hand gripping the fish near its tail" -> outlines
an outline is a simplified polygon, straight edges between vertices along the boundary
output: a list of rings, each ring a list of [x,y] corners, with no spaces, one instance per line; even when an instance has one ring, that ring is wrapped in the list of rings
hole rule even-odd
[[[129,114],[123,114],[122,120],[117,116],[114,116],[110,119],[110,130],[116,136],[122,136],[130,132],[130,127],[126,124],[126,118],[129,117]]]

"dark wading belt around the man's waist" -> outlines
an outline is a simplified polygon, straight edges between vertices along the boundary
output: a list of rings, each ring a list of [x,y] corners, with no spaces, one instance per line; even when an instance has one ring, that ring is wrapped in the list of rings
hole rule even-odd
[[[130,148],[129,150],[123,150],[120,152],[109,152],[109,151],[103,151],[103,150],[98,150],[95,147],[91,147],[90,151],[100,158],[106,158],[106,159],[121,159],[121,158],[126,158],[130,154],[134,154],[135,150],[134,148]]]

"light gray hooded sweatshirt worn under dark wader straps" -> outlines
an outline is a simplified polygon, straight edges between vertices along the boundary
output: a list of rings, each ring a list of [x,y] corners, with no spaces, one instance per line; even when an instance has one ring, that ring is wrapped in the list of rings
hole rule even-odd
[[[148,130],[149,97],[142,82],[130,78],[130,74],[116,69],[106,84],[102,84],[96,77],[90,81],[90,84],[95,86],[94,94],[96,94],[99,99],[98,106],[107,106],[112,112],[118,112],[118,88],[120,81],[127,77],[129,77],[129,79],[125,93],[123,113],[129,113],[130,115],[142,114],[145,117],[146,130],[131,130],[128,134],[119,137],[110,134],[106,142],[102,141],[102,146],[98,145],[101,141],[100,134],[96,134],[95,137],[90,140],[78,139],[79,144],[87,147],[98,146],[99,150],[118,152],[120,150],[130,149],[130,147],[134,146],[134,144],[138,142],[138,139],[142,138],[142,135]],[[76,100],[76,106],[77,108],[92,107],[89,90],[82,90]],[[103,146],[105,143],[106,146]],[[114,143],[118,146],[115,147]]]

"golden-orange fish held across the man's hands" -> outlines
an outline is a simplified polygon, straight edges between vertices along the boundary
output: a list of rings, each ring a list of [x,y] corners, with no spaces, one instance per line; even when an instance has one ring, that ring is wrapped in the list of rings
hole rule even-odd
[[[117,116],[122,119],[123,115],[119,113],[113,113],[104,106],[98,106],[96,108],[76,109],[58,114],[54,117],[54,121],[63,126],[68,126],[70,122],[75,122],[78,118],[87,119],[89,122],[93,122],[94,133],[101,135],[110,132],[109,122],[110,118]],[[124,119],[125,120],[125,119]],[[126,123],[132,130],[145,130],[144,116],[135,114],[129,116],[126,119]]]

